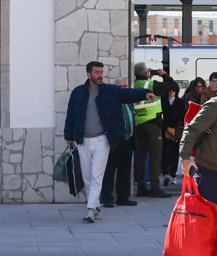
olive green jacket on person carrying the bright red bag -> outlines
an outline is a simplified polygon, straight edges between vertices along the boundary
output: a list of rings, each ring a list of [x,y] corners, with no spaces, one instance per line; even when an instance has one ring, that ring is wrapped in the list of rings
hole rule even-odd
[[[205,102],[185,127],[179,146],[181,160],[190,159],[194,144],[207,129],[211,132],[196,149],[194,160],[201,166],[217,171],[217,96]]]

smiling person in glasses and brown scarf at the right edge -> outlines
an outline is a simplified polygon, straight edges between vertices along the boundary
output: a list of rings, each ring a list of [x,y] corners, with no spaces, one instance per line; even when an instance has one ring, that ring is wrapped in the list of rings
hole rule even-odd
[[[209,86],[201,94],[201,102],[203,105],[206,101],[215,97],[217,92],[217,72],[213,72],[209,77]]]

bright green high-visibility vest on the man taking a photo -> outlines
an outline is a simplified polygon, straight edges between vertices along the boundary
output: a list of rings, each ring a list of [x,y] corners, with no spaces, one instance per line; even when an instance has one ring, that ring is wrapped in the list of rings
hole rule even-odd
[[[134,82],[135,89],[145,88],[153,91],[153,85],[153,80],[136,80]],[[155,98],[153,102],[145,100],[134,104],[135,121],[137,124],[155,119],[156,114],[160,113],[161,111],[161,96]]]

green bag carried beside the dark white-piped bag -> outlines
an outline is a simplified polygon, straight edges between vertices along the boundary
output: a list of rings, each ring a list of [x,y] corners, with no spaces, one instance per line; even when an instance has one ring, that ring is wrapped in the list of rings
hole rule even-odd
[[[70,155],[70,152],[66,152],[69,146],[63,151],[63,154],[57,160],[54,170],[53,170],[53,180],[54,181],[64,181],[67,182],[66,176],[66,160]]]

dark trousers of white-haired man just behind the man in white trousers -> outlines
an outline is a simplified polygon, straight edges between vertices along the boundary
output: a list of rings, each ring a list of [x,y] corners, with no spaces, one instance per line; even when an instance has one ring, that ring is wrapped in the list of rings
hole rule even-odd
[[[132,164],[132,137],[119,142],[117,148],[108,156],[108,162],[103,177],[102,200],[103,203],[111,203],[114,197],[111,195],[114,187],[114,175],[117,169],[116,193],[117,199],[130,196],[130,171]]]

